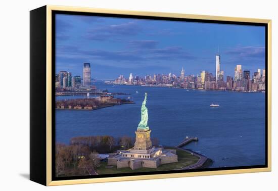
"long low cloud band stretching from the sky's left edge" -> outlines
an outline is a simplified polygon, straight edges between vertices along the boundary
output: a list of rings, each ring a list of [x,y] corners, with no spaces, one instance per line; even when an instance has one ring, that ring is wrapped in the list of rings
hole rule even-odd
[[[137,43],[137,42],[136,42]],[[100,49],[84,50],[76,46],[58,46],[57,57],[80,62],[89,59],[117,61],[117,62],[141,62],[150,63],[164,60],[192,60],[196,59],[193,55],[184,51],[179,46],[169,46],[162,49],[144,49],[142,43],[137,47],[140,49],[127,49],[120,51],[107,51]],[[144,43],[143,43],[144,44]],[[148,43],[147,43],[148,44]]]

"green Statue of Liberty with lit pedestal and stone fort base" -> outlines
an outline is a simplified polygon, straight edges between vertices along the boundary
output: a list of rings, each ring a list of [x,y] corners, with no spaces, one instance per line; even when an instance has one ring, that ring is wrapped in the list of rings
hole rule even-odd
[[[134,147],[118,151],[118,154],[108,158],[108,165],[119,168],[157,168],[161,164],[177,162],[176,150],[152,146],[151,130],[148,126],[147,93],[141,108],[141,121],[138,124]]]

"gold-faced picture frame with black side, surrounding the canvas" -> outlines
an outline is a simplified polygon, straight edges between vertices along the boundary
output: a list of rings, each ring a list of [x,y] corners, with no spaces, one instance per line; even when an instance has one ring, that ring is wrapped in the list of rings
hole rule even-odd
[[[163,17],[163,18],[181,18],[181,19],[199,19],[199,20],[209,20],[209,21],[229,21],[229,22],[247,22],[247,23],[263,23],[267,25],[267,167],[265,168],[250,168],[250,169],[232,169],[232,170],[216,170],[216,171],[201,171],[201,172],[177,172],[177,173],[167,173],[167,174],[152,174],[152,175],[132,175],[132,176],[120,176],[120,177],[100,177],[100,178],[84,178],[84,179],[70,179],[70,180],[53,180],[52,178],[52,155],[53,155],[53,141],[52,141],[52,112],[53,112],[53,49],[52,49],[52,20],[53,11],[65,11],[65,12],[80,12],[80,13],[104,13],[104,14],[116,14],[116,15],[132,15],[132,16],[151,16],[151,17]],[[207,15],[191,15],[191,14],[179,14],[179,13],[160,13],[160,12],[142,12],[142,11],[127,11],[127,10],[111,10],[111,9],[96,9],[96,8],[81,8],[81,7],[65,7],[65,6],[44,6],[30,12],[30,43],[31,46],[35,46],[37,43],[36,39],[41,40],[41,37],[34,38],[34,30],[37,27],[44,25],[40,30],[45,29],[45,39],[40,41],[42,47],[45,46],[45,50],[35,50],[35,48],[30,51],[30,63],[31,63],[31,124],[30,124],[30,179],[44,185],[66,185],[66,184],[81,184],[81,183],[97,183],[97,182],[111,182],[111,181],[127,181],[127,180],[144,180],[144,179],[158,179],[158,178],[176,178],[176,177],[188,177],[188,176],[203,176],[203,175],[220,175],[220,174],[235,174],[235,173],[250,173],[250,172],[267,172],[271,171],[271,20],[267,19],[253,19],[253,18],[237,18],[237,17],[221,17],[221,16],[207,16]],[[39,16],[42,20],[39,20]],[[36,17],[36,18],[34,18]],[[38,31],[39,32],[39,31]],[[42,36],[43,37],[43,36]],[[33,39],[33,40],[32,40]],[[38,40],[38,41],[39,41]],[[34,44],[33,44],[34,43]],[[44,55],[45,58],[36,58],[34,55],[39,54]],[[44,52],[45,51],[45,52]],[[42,59],[42,60],[36,60]],[[45,61],[45,65],[41,64],[43,67],[41,71],[45,71],[45,86],[44,89],[45,102],[42,105],[45,106],[45,113],[37,113],[32,110],[34,103],[39,101],[39,99],[34,95],[34,90],[36,90],[35,85],[32,86],[32,80],[37,76],[32,76],[32,69],[35,61]],[[38,116],[39,115],[39,116]],[[45,124],[42,123],[43,130],[35,130],[35,128],[40,128],[38,124],[40,122],[34,120],[35,117],[44,118]],[[44,128],[45,127],[45,128]],[[39,132],[38,132],[39,131]],[[37,138],[41,140],[37,140]],[[38,141],[45,141],[44,145],[38,143]],[[41,161],[40,164],[35,164],[36,160],[40,160],[38,155],[40,153],[37,151],[42,147],[40,152],[45,152],[45,160]],[[35,165],[34,165],[35,164]],[[45,173],[45,176],[39,176],[39,172]]]

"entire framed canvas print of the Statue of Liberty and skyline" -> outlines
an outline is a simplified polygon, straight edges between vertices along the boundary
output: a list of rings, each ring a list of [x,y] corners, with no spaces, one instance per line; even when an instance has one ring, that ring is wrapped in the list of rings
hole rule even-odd
[[[30,11],[30,179],[271,170],[271,21]]]

